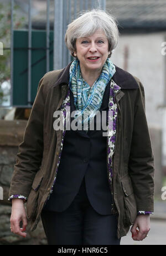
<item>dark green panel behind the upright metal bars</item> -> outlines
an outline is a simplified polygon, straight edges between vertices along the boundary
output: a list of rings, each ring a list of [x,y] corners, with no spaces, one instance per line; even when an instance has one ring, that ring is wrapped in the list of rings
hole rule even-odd
[[[13,106],[33,105],[40,79],[46,73],[46,31],[32,31],[31,102],[28,102],[28,31],[14,31]],[[50,31],[50,70],[53,70],[54,33]]]

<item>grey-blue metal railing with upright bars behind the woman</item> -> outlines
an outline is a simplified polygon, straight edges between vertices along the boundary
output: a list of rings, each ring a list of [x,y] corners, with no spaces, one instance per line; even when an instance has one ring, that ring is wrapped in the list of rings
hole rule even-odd
[[[46,0],[46,70],[50,71],[50,2],[54,1],[54,70],[68,65],[71,55],[66,48],[64,37],[68,24],[77,17],[77,13],[94,8],[106,8],[106,0]],[[28,0],[28,106],[32,106],[31,76],[32,76],[32,0]],[[13,106],[13,9],[11,0],[11,106]]]

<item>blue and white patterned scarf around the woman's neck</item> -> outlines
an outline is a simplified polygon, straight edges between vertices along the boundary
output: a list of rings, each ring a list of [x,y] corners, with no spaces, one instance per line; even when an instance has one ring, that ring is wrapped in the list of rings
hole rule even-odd
[[[82,78],[80,61],[76,59],[71,63],[69,86],[74,95],[76,107],[74,118],[78,118],[79,123],[84,127],[83,129],[89,128],[90,120],[100,109],[106,85],[115,72],[115,65],[107,58],[102,67],[101,75],[94,82],[94,85],[89,86]]]

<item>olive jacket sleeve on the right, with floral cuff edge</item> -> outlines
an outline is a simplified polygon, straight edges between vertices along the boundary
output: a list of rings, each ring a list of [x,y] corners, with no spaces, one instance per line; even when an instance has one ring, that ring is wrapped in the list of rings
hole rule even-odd
[[[139,213],[154,211],[154,157],[149,134],[145,96],[142,83],[136,79],[139,89],[134,110],[134,124],[128,170]]]

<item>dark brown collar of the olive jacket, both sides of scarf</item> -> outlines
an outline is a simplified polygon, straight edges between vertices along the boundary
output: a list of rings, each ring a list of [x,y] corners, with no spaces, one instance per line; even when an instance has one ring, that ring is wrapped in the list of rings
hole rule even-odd
[[[60,75],[58,76],[58,80],[56,81],[55,85],[63,85],[64,83],[69,83],[69,71],[71,63],[72,61],[60,72]],[[117,67],[116,65],[115,68],[116,72],[113,75],[112,79],[118,86],[120,86],[122,89],[139,88],[138,83],[129,72],[122,70],[122,68]]]

